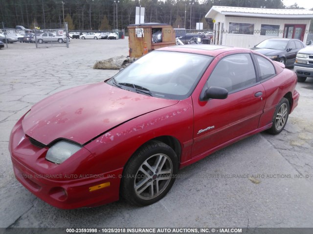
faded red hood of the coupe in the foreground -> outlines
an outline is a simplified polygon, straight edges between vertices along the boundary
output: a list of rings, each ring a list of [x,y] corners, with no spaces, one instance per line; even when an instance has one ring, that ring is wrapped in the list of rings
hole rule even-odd
[[[22,127],[26,135],[45,145],[58,138],[85,144],[130,119],[176,103],[101,82],[45,98],[31,108]]]

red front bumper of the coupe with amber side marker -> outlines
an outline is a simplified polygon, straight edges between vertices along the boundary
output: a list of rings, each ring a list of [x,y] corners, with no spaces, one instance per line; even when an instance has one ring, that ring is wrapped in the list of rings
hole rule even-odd
[[[90,175],[88,168],[86,173],[75,172],[75,169],[65,168],[63,163],[49,162],[45,160],[47,148],[33,145],[23,133],[21,123],[20,119],[12,130],[9,150],[15,177],[31,193],[61,209],[93,207],[119,199],[122,168]],[[83,154],[90,154],[82,149]],[[77,168],[75,163],[70,165]]]

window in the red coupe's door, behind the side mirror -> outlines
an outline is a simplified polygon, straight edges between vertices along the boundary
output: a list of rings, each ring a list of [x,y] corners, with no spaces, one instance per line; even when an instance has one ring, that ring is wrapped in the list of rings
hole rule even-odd
[[[227,56],[219,61],[208,78],[207,86],[217,86],[228,92],[242,90],[256,83],[254,65],[250,54]]]

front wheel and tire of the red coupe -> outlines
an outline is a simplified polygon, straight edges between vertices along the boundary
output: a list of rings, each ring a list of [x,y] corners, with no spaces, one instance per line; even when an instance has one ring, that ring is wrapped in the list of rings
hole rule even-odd
[[[121,181],[121,196],[129,203],[146,206],[162,199],[178,173],[174,150],[160,141],[151,141],[130,158]]]

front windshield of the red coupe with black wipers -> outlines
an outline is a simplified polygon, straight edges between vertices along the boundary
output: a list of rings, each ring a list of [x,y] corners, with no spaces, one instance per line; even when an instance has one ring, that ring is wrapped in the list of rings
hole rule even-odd
[[[136,60],[108,83],[156,98],[182,100],[191,95],[213,57],[154,51]]]

